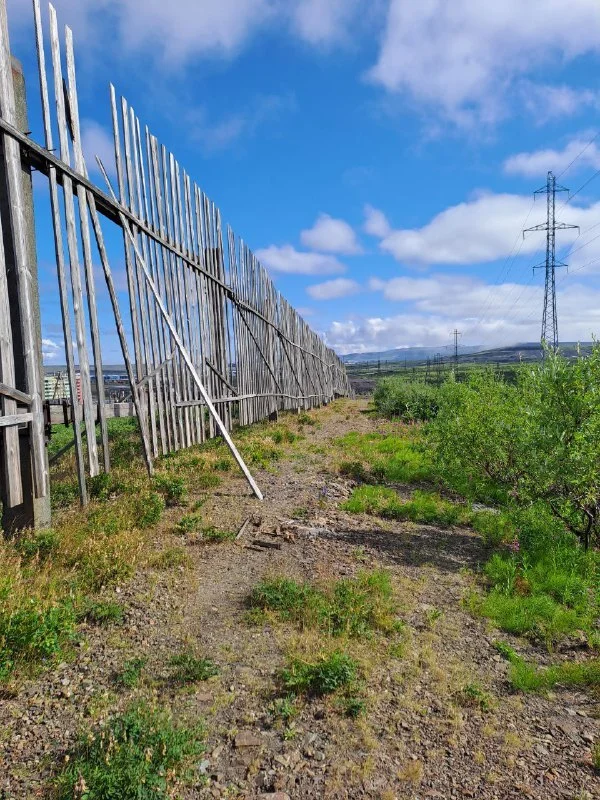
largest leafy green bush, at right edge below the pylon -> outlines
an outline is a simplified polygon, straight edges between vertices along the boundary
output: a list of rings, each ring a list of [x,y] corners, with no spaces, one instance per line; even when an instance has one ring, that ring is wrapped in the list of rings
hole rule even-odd
[[[444,478],[467,496],[544,503],[588,547],[600,530],[600,345],[548,352],[517,383],[492,371],[448,381],[430,426]]]

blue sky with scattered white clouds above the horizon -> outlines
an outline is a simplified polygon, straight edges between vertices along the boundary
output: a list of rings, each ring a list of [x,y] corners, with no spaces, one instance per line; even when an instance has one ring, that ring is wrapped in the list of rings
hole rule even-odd
[[[31,9],[8,6],[42,141]],[[560,336],[600,331],[600,177],[584,185],[600,169],[598,0],[56,6],[75,34],[88,162],[111,160],[112,81],[339,352],[442,349],[455,327],[465,345],[538,339],[544,240],[520,230],[544,221],[532,192],[549,169],[583,187],[558,200],[559,220],[580,226],[559,234],[559,255],[572,251]],[[44,339],[58,363],[42,179],[35,197]]]

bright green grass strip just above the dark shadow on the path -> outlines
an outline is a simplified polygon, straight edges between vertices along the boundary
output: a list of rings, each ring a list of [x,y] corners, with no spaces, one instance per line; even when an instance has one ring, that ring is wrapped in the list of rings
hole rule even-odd
[[[451,503],[433,492],[415,491],[410,500],[402,500],[394,489],[386,486],[357,486],[341,507],[351,514],[425,524],[468,525],[473,518],[468,506]]]

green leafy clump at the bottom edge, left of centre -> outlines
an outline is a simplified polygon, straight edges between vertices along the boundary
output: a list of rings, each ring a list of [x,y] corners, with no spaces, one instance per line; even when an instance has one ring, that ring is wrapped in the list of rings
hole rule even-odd
[[[164,800],[204,752],[200,725],[132,706],[83,736],[56,781],[57,800]],[[85,787],[85,788],[84,788]]]

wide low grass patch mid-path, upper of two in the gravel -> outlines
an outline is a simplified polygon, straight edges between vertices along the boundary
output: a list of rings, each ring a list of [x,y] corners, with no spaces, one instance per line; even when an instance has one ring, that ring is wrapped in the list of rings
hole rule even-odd
[[[281,621],[318,628],[331,636],[391,633],[400,624],[391,578],[384,570],[339,580],[329,589],[272,578],[254,588],[249,604],[252,609],[272,612]]]

